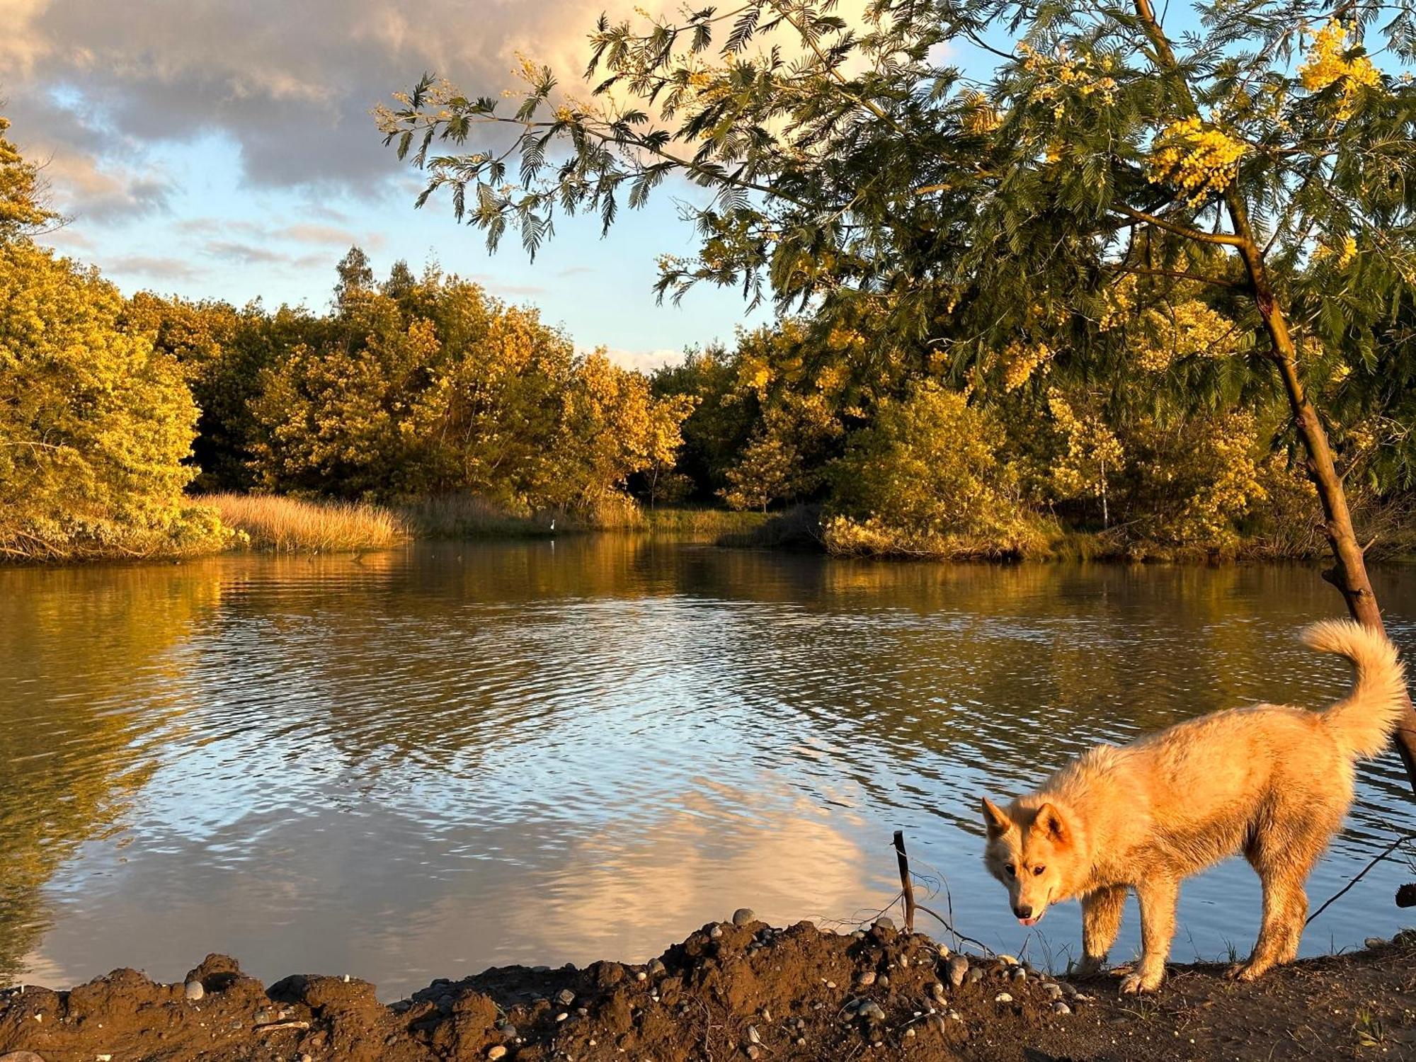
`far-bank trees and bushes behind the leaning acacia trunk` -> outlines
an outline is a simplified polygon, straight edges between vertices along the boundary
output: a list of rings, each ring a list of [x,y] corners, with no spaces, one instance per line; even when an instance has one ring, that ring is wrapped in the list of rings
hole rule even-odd
[[[881,300],[881,320],[821,312],[691,353],[653,388],[692,399],[675,466],[690,496],[804,506],[782,532],[833,552],[1321,554],[1284,398],[1255,371],[1252,334],[1195,287],[1131,278],[1063,321],[1104,357],[1095,374],[1027,338],[954,374],[947,333],[892,341]],[[1416,351],[1409,330],[1388,338],[1357,372],[1313,347],[1310,372],[1340,413],[1358,520],[1389,554],[1412,545]]]

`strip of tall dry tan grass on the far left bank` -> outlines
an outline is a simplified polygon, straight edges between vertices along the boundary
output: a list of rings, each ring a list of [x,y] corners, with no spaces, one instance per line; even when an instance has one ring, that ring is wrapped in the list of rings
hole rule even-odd
[[[391,510],[360,501],[300,501],[270,494],[208,494],[201,498],[221,523],[251,537],[255,549],[357,552],[388,549],[409,539]]]

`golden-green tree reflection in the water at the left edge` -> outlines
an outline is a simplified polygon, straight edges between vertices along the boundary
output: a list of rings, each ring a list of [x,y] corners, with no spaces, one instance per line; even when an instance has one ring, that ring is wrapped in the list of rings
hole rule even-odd
[[[210,564],[0,569],[0,980],[44,933],[45,882],[149,777],[170,650],[218,595]]]

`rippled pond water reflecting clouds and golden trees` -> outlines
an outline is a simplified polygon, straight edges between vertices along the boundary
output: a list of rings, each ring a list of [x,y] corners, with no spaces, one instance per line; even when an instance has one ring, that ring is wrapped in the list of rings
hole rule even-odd
[[[1416,571],[1381,573],[1416,646]],[[1303,568],[942,568],[644,538],[362,561],[0,571],[0,983],[229,952],[385,998],[494,963],[643,960],[753,906],[852,920],[891,831],[957,923],[1027,930],[977,797],[1097,741],[1260,698],[1325,702]],[[1410,828],[1395,755],[1314,905]],[[1383,864],[1308,952],[1400,926]],[[943,903],[943,899],[940,899]],[[1177,959],[1252,943],[1239,861],[1184,891]],[[1075,905],[1029,954],[1079,949]],[[927,926],[926,926],[927,927]],[[1137,942],[1134,909],[1117,953]]]

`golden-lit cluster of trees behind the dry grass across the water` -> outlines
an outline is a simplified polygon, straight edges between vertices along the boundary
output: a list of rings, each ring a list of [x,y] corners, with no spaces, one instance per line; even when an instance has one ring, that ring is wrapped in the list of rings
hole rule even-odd
[[[358,248],[329,313],[140,293],[125,327],[201,409],[200,491],[593,510],[673,464],[692,405],[436,268],[375,282]]]

